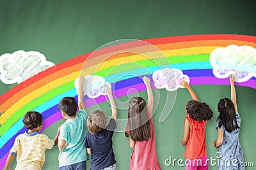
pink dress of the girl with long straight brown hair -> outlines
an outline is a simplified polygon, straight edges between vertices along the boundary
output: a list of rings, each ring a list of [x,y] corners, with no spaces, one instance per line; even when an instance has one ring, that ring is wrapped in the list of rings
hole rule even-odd
[[[159,170],[159,162],[156,155],[155,128],[153,124],[152,113],[148,111],[150,117],[151,138],[147,141],[135,141],[130,160],[130,170]],[[129,129],[129,127],[127,127]],[[129,133],[129,132],[128,132]]]

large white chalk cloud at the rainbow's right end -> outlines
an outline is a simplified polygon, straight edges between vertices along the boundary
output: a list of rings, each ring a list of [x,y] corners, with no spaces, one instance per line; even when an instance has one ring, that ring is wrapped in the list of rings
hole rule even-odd
[[[244,82],[256,76],[256,49],[252,46],[229,45],[216,48],[210,55],[212,73],[217,78],[236,75],[236,82]]]

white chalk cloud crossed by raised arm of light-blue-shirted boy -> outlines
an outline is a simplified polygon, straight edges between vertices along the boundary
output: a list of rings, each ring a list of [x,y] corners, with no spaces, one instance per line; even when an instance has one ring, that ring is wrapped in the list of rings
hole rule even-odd
[[[76,88],[76,93],[78,94],[79,78],[76,78],[74,86]],[[84,76],[84,95],[90,98],[97,98],[100,95],[106,95],[105,88],[109,87],[111,89],[111,84],[102,78],[102,76]]]

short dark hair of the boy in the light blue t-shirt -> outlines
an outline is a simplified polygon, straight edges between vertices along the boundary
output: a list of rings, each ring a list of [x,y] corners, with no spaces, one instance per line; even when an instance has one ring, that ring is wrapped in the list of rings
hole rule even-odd
[[[64,97],[58,104],[60,111],[63,111],[68,117],[76,115],[77,103],[74,97]]]

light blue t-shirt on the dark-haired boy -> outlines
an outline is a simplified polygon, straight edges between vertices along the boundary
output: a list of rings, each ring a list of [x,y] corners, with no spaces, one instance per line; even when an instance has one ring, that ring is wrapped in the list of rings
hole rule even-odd
[[[75,118],[67,119],[60,127],[59,139],[68,144],[59,154],[59,167],[68,166],[88,160],[88,153],[84,146],[86,136],[87,115],[79,110]]]

